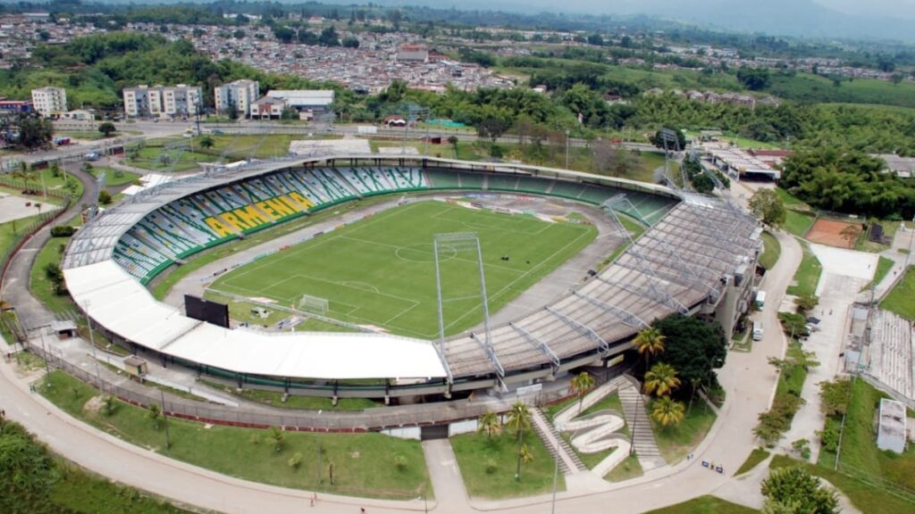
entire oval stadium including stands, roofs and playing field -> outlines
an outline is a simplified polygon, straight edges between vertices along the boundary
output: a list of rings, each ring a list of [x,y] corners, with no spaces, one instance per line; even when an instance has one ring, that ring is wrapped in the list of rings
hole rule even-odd
[[[214,324],[147,289],[156,277],[224,243],[313,216],[333,225],[335,209],[371,198],[392,198],[390,209],[351,225],[337,222],[329,233],[312,230],[291,248],[258,255],[209,281],[216,281],[221,298],[273,305],[331,329]],[[616,230],[597,237],[617,238],[615,258],[603,255],[603,265],[595,262],[535,308],[511,319],[490,317],[488,306],[498,310],[522,295],[595,233],[574,216],[547,220],[542,212],[500,209],[488,198],[511,205],[548,199],[602,216]],[[413,213],[397,220],[404,209]],[[500,226],[490,227],[493,216]],[[453,219],[436,224],[443,217]],[[638,238],[625,227],[631,220],[644,230]],[[360,225],[370,221],[388,225]],[[513,236],[502,229],[506,223],[517,227]],[[400,268],[361,255],[364,238],[346,230],[362,230],[377,244],[391,241]],[[328,155],[214,166],[149,188],[79,230],[63,268],[70,294],[98,329],[163,365],[232,380],[239,388],[417,402],[513,391],[570,369],[612,365],[639,330],[673,313],[716,319],[729,333],[750,303],[760,231],[756,220],[726,201],[623,179],[425,156]],[[413,232],[419,236],[397,242],[398,234]],[[339,246],[347,241],[355,246]],[[524,241],[543,241],[544,248],[526,257]],[[550,261],[556,246],[565,253]],[[420,266],[422,273],[412,273]],[[512,271],[522,266],[539,271]],[[350,278],[329,279],[334,269]],[[233,278],[239,273],[248,280]],[[267,275],[275,284],[260,288]],[[390,285],[374,285],[381,281]],[[496,297],[486,294],[486,284],[490,292],[520,285]],[[398,286],[422,288],[432,300],[420,308],[389,294]],[[340,296],[341,290],[350,294]],[[385,325],[414,311],[403,327]],[[461,323],[454,321],[458,312],[467,315]]]

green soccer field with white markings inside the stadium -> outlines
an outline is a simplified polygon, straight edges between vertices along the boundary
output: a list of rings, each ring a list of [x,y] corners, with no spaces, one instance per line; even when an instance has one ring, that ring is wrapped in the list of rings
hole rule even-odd
[[[242,266],[211,289],[296,308],[309,294],[328,300],[324,316],[432,338],[438,333],[432,241],[438,233],[467,231],[479,236],[490,314],[597,236],[591,225],[421,201]],[[476,251],[440,255],[446,333],[455,334],[483,318]]]

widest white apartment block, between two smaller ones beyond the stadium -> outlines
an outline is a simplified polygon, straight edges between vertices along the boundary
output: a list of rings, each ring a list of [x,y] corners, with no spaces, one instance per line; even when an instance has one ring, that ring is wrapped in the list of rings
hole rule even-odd
[[[176,118],[202,112],[203,90],[197,86],[137,86],[124,88],[124,113],[128,117]]]

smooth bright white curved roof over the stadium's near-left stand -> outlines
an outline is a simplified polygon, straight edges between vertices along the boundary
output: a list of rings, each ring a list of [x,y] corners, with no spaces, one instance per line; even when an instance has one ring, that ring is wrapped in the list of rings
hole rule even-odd
[[[444,378],[432,343],[384,334],[231,330],[161,304],[113,261],[64,271],[70,294],[121,337],[179,359],[253,375],[311,379]]]

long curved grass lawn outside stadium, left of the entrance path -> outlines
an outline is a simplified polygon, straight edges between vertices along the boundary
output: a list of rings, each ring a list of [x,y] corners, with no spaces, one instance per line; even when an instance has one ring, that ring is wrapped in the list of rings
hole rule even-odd
[[[117,402],[111,416],[93,412],[86,408],[86,402],[98,391],[61,371],[52,372],[40,391],[64,411],[124,441],[232,477],[372,498],[416,498],[428,486],[425,458],[418,441],[382,434],[285,432],[282,451],[276,452],[266,440],[269,431],[169,418],[172,446],[166,449],[165,431],[155,427],[145,409]],[[320,484],[318,447],[322,455]],[[287,465],[296,454],[302,455],[297,469]],[[405,466],[395,466],[398,456],[404,457]],[[328,481],[331,462],[333,486]]]

